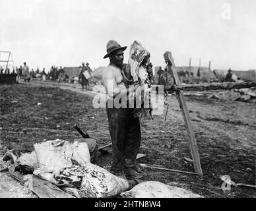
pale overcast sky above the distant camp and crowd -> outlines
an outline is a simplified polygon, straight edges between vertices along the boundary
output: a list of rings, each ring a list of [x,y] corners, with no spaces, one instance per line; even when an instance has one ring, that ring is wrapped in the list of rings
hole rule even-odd
[[[172,51],[177,66],[256,69],[255,0],[0,0],[0,50],[15,65],[108,65],[108,40],[138,40],[154,66]],[[3,55],[1,57],[3,59]]]

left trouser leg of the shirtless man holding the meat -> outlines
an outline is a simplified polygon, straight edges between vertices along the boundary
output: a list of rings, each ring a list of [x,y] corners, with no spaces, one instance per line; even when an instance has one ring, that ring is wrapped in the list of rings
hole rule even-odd
[[[107,108],[108,124],[112,140],[112,171],[123,170],[124,143],[127,127],[126,109]]]

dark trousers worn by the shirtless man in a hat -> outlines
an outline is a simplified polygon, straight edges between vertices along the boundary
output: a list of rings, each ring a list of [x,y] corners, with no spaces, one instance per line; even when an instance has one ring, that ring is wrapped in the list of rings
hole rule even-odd
[[[123,170],[124,164],[134,163],[141,145],[139,118],[131,108],[107,108],[112,139],[112,171]]]

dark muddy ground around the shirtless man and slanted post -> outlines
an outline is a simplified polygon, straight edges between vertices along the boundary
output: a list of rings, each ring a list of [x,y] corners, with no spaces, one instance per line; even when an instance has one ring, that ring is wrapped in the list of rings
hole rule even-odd
[[[58,87],[60,86],[60,87]],[[255,185],[256,104],[185,96],[197,138],[203,178],[197,175],[144,169],[144,181],[170,183],[205,197],[256,197],[255,189],[231,187],[222,191],[220,175],[236,183]],[[38,102],[41,105],[38,105]],[[189,137],[176,96],[168,97],[167,121],[164,115],[141,122],[139,162],[152,166],[194,171],[190,162]],[[0,86],[0,144],[7,148],[33,150],[33,144],[61,138],[80,138],[74,124],[103,146],[111,142],[105,109],[92,107],[92,96],[79,86],[50,82]],[[111,152],[111,148],[108,148]],[[100,156],[99,166],[109,169],[111,154]],[[0,164],[1,165],[1,164]],[[11,185],[8,185],[11,184]],[[15,194],[10,194],[13,188]],[[31,193],[0,173],[0,196],[33,197]]]

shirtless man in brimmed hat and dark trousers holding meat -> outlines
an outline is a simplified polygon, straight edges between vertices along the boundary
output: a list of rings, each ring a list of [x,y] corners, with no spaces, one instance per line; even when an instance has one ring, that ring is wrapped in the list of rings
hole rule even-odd
[[[141,127],[139,118],[133,116],[133,108],[115,107],[120,96],[127,96],[128,86],[131,84],[129,67],[123,64],[123,51],[127,47],[121,47],[115,40],[107,44],[110,64],[102,74],[102,82],[113,104],[106,104],[108,124],[112,139],[112,167],[111,172],[118,177],[127,179],[141,179],[141,168],[135,164],[141,145]],[[135,87],[136,88],[136,87]],[[113,105],[112,107],[108,105]],[[126,176],[125,176],[126,175]]]

